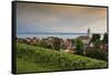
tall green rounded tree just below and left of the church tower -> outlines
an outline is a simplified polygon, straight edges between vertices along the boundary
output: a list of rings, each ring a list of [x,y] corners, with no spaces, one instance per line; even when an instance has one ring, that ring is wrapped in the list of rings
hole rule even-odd
[[[80,55],[83,54],[83,42],[81,41],[81,39],[75,40],[75,50],[77,50],[77,54]]]

